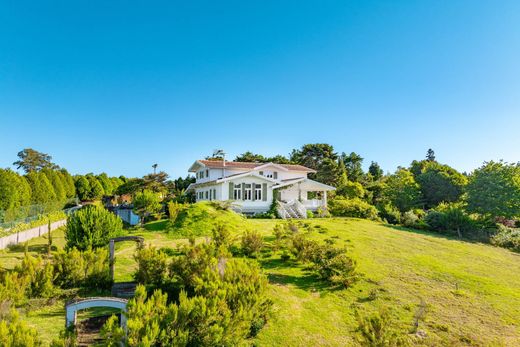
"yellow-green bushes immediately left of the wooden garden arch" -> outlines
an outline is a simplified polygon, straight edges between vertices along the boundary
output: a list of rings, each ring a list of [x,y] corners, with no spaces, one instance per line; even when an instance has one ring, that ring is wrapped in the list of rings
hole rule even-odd
[[[72,248],[54,254],[54,283],[62,288],[109,288],[111,284],[108,250],[79,251]]]

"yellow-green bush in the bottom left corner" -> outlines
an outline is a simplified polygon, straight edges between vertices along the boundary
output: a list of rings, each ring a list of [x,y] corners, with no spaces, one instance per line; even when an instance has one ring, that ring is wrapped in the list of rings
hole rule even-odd
[[[20,315],[11,309],[6,317],[0,316],[0,346],[3,347],[36,347],[42,342],[36,329],[20,320]]]

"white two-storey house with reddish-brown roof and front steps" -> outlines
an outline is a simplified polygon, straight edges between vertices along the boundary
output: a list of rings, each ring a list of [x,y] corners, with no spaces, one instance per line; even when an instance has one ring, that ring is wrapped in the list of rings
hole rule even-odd
[[[315,170],[301,165],[197,160],[189,172],[196,182],[188,187],[197,201],[232,200],[245,214],[269,210],[274,200],[284,218],[305,218],[307,210],[327,206],[327,192],[334,187],[311,180]]]

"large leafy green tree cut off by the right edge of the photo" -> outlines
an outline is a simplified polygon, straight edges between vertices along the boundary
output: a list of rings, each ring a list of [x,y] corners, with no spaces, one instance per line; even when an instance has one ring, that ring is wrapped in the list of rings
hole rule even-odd
[[[470,212],[485,217],[520,217],[520,163],[486,162],[466,188]]]

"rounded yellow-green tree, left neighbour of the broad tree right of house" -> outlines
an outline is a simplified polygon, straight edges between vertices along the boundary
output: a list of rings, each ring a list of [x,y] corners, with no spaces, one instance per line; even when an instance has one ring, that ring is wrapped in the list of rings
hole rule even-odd
[[[384,195],[401,212],[418,207],[421,199],[421,191],[413,174],[404,168],[387,177]]]

